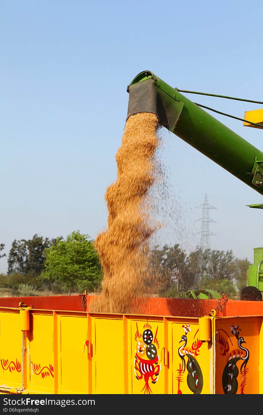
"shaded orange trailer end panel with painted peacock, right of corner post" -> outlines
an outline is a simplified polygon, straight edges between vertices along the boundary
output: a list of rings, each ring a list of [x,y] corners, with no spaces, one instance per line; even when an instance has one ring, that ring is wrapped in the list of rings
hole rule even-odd
[[[261,326],[256,316],[216,320],[215,393],[259,393]]]

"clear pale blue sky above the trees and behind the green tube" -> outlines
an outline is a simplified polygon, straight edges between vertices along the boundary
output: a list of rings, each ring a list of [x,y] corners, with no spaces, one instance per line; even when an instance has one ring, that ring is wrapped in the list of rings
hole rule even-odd
[[[261,1],[0,3],[0,243],[95,238],[107,226],[104,195],[128,109],[127,85],[150,70],[169,85],[263,101]],[[262,106],[187,94],[243,118]],[[263,131],[212,113],[263,151]],[[263,246],[262,196],[163,129],[163,159],[177,218],[166,243],[199,243],[207,194],[211,248],[253,261]],[[187,166],[191,163],[191,172]],[[173,229],[172,229],[173,228]],[[180,240],[176,240],[180,239]],[[0,272],[7,258],[0,259]]]

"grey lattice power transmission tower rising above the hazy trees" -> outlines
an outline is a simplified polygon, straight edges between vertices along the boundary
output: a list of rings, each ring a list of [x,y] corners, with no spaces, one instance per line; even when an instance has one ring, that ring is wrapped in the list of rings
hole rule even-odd
[[[201,233],[201,241],[199,245],[200,252],[197,260],[197,280],[201,281],[205,276],[214,278],[214,269],[210,249],[210,235],[215,234],[210,232],[209,223],[216,221],[209,217],[209,209],[216,209],[216,207],[209,205],[207,195],[204,197],[204,203],[196,207],[202,208],[202,217],[195,221],[198,222],[202,220],[202,230],[201,232],[197,232],[197,234]]]

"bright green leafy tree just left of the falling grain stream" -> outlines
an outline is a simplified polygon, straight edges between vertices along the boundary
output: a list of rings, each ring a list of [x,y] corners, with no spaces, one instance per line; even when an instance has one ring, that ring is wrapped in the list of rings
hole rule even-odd
[[[50,283],[57,282],[69,294],[93,291],[98,287],[102,272],[99,258],[89,235],[72,232],[66,240],[58,239],[45,249],[46,260],[40,277]]]

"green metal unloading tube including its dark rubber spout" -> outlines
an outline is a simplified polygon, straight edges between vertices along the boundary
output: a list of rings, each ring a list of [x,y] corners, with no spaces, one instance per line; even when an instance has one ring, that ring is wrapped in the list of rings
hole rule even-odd
[[[263,152],[150,71],[128,85],[128,114],[155,113],[162,124],[263,195]]]

